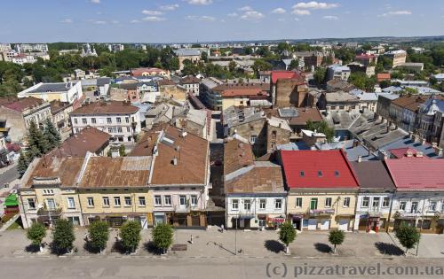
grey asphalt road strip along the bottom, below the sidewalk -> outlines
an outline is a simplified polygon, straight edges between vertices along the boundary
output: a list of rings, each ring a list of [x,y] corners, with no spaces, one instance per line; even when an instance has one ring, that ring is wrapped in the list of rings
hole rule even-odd
[[[336,267],[338,265],[338,267]],[[378,267],[379,266],[379,267]],[[316,269],[313,269],[315,267]],[[321,267],[323,270],[321,270]],[[343,267],[347,271],[342,272]],[[357,268],[368,268],[366,275],[349,274]],[[374,267],[370,274],[370,267]],[[388,275],[387,268],[392,268]],[[428,267],[429,269],[425,269]],[[433,278],[425,272],[444,268],[442,259],[294,259],[285,260],[251,258],[212,259],[148,259],[144,257],[110,258],[14,258],[0,259],[2,278]],[[305,272],[308,275],[300,273]],[[339,274],[326,275],[327,270],[339,270]],[[354,269],[353,269],[354,268]],[[408,268],[410,268],[408,271]],[[417,268],[418,275],[404,275]],[[348,271],[350,270],[350,271]],[[379,270],[379,275],[375,274]],[[406,271],[403,271],[406,270]],[[313,274],[310,274],[313,273]]]

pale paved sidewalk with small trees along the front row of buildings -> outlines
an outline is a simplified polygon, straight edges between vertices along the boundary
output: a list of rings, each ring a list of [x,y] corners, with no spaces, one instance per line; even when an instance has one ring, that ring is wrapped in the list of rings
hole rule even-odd
[[[115,236],[117,229],[110,231],[107,249],[104,255],[88,252],[84,248],[85,229],[75,229],[75,247],[74,256],[80,257],[127,257],[115,247]],[[51,242],[51,231],[48,231],[45,242]],[[193,244],[191,244],[193,236]],[[395,241],[394,236],[386,233],[366,234],[366,233],[346,233],[345,242],[337,247],[337,255],[330,253],[328,241],[328,232],[302,232],[297,235],[294,243],[290,244],[290,257],[301,259],[322,258],[329,259],[334,257],[382,259],[390,257],[404,257],[403,251]],[[186,251],[170,251],[168,257],[172,258],[233,258],[237,256],[248,258],[274,258],[286,259],[289,256],[284,254],[284,247],[279,241],[279,235],[276,231],[242,231],[234,230],[221,233],[218,228],[209,228],[208,230],[179,229],[174,231],[173,244],[186,244]],[[139,249],[135,253],[138,257],[159,258],[161,257],[150,245],[151,229],[142,231],[142,240]],[[26,247],[29,241],[26,238],[26,231],[12,230],[4,231],[0,234],[0,256],[39,256],[35,253],[27,252]],[[444,247],[444,236],[442,235],[424,235],[419,247],[420,258],[441,258]],[[411,254],[410,257],[414,257]],[[44,256],[52,256],[47,252]],[[162,256],[163,257],[163,256]]]

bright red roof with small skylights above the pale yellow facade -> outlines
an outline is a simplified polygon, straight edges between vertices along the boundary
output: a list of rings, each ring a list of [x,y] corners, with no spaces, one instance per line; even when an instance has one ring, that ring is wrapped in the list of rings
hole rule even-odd
[[[342,150],[281,151],[282,166],[291,188],[358,188],[353,167]]]

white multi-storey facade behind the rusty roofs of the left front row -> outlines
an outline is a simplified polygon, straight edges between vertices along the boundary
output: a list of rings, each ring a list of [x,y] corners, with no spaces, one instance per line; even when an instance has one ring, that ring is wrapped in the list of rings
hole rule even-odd
[[[113,136],[115,143],[134,143],[134,136],[138,135],[141,130],[139,110],[128,114],[109,112],[97,115],[75,114],[70,117],[74,134],[91,126]],[[134,129],[132,122],[136,123]]]

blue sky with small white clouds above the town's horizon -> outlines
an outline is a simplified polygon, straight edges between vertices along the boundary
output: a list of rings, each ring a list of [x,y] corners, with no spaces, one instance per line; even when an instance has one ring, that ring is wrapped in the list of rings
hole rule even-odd
[[[444,35],[444,0],[0,0],[0,43]]]

